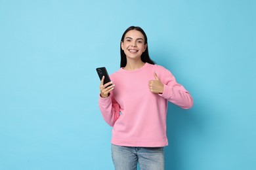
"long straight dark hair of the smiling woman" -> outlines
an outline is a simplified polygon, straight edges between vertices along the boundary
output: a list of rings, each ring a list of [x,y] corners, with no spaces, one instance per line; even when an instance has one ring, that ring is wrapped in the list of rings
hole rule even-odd
[[[121,37],[121,42],[123,42],[123,40],[125,39],[125,34],[128,31],[131,30],[136,30],[136,31],[140,31],[140,33],[142,33],[142,35],[144,35],[144,43],[148,44],[148,38],[146,37],[146,33],[143,31],[143,29],[141,27],[135,27],[135,26],[131,26],[128,27],[125,32],[123,33],[123,36]],[[121,61],[120,61],[120,67],[125,67],[125,65],[127,64],[127,59],[126,59],[126,55],[125,52],[123,52],[122,48],[121,48],[121,43],[120,43],[120,52],[121,52]],[[140,56],[141,60],[144,63],[151,63],[151,64],[155,64],[154,61],[152,61],[152,59],[150,59],[150,56],[148,54],[148,46],[146,46],[146,50],[141,54]]]

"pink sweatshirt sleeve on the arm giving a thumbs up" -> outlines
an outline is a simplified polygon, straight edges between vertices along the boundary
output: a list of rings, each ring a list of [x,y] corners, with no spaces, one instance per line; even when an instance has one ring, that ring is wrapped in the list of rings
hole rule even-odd
[[[169,70],[165,69],[161,81],[163,83],[163,93],[160,94],[161,97],[178,105],[182,109],[190,109],[192,107],[192,96],[181,84],[177,83],[175,77]]]

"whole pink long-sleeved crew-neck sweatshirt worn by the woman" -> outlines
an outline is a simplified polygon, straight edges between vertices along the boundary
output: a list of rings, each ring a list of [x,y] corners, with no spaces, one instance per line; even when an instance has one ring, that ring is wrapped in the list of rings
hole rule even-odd
[[[154,71],[164,84],[162,94],[148,88],[148,81],[155,79]],[[110,78],[116,86],[109,97],[99,97],[98,104],[104,120],[113,127],[112,144],[167,146],[167,102],[189,109],[193,105],[190,93],[160,65],[146,63],[135,71],[121,68]]]

